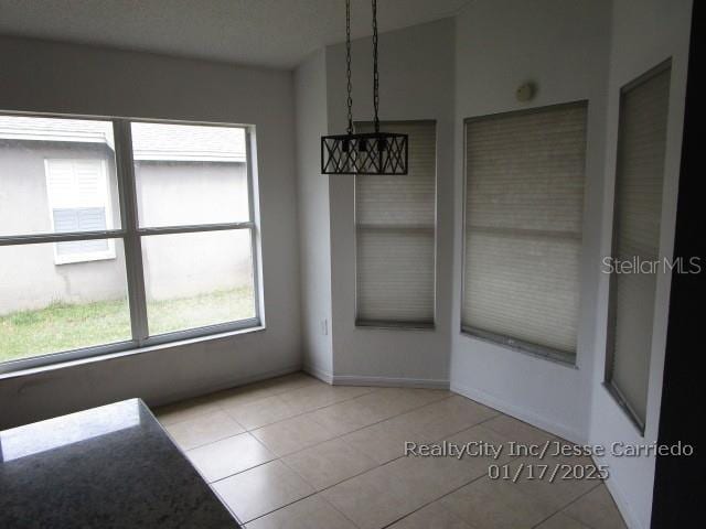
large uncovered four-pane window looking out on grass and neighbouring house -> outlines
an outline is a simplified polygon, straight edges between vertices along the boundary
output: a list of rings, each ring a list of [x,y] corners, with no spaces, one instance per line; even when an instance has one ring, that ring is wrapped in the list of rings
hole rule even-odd
[[[0,116],[0,371],[259,325],[250,141]]]

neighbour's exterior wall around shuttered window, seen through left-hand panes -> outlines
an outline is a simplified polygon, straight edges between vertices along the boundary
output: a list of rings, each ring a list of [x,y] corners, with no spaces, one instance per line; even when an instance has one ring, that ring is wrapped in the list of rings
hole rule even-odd
[[[52,231],[45,159],[101,159],[109,188],[116,190],[115,159],[105,144],[0,140],[0,226],[2,235]],[[120,223],[111,193],[113,226]],[[115,259],[55,264],[54,245],[0,248],[0,315],[41,309],[53,301],[83,303],[126,295],[125,255],[116,241]]]

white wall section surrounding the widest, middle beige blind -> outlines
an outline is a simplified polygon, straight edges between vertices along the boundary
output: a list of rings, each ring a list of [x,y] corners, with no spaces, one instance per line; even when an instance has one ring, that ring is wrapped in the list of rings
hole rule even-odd
[[[456,246],[451,388],[573,441],[588,440],[602,213],[610,2],[479,0],[457,17]],[[530,104],[515,89],[534,80]],[[588,99],[577,367],[460,332],[463,119]]]

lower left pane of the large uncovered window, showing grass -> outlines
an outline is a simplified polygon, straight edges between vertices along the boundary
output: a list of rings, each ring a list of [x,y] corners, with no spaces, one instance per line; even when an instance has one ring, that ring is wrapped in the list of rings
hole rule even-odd
[[[114,258],[58,264],[58,245],[0,247],[0,361],[131,339],[122,240],[77,244]]]

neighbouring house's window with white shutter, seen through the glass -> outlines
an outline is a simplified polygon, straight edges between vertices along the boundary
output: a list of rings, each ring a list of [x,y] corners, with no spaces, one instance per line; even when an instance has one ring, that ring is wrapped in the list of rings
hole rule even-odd
[[[113,228],[104,160],[47,159],[44,165],[52,231],[66,234]],[[111,239],[71,240],[54,245],[56,264],[115,257],[115,244]]]

